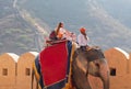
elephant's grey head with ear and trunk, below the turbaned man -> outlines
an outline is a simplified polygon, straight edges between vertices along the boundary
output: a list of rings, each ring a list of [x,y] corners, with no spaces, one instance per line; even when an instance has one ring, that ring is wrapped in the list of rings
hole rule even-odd
[[[99,77],[103,88],[109,89],[109,68],[102,49],[76,49],[72,63],[72,81],[76,89],[92,89],[88,75]]]

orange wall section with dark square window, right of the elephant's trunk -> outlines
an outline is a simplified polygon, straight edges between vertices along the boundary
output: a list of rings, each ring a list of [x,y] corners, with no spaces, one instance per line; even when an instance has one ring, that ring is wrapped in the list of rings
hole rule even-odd
[[[130,55],[119,47],[105,51],[110,69],[110,89],[131,89]]]

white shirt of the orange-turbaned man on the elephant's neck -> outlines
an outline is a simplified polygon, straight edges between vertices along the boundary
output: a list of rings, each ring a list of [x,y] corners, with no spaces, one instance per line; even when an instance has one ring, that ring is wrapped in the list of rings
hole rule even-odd
[[[87,42],[88,42],[88,37],[86,40],[83,34],[79,34],[79,36],[78,36],[78,43],[79,43],[80,46],[86,46]]]

